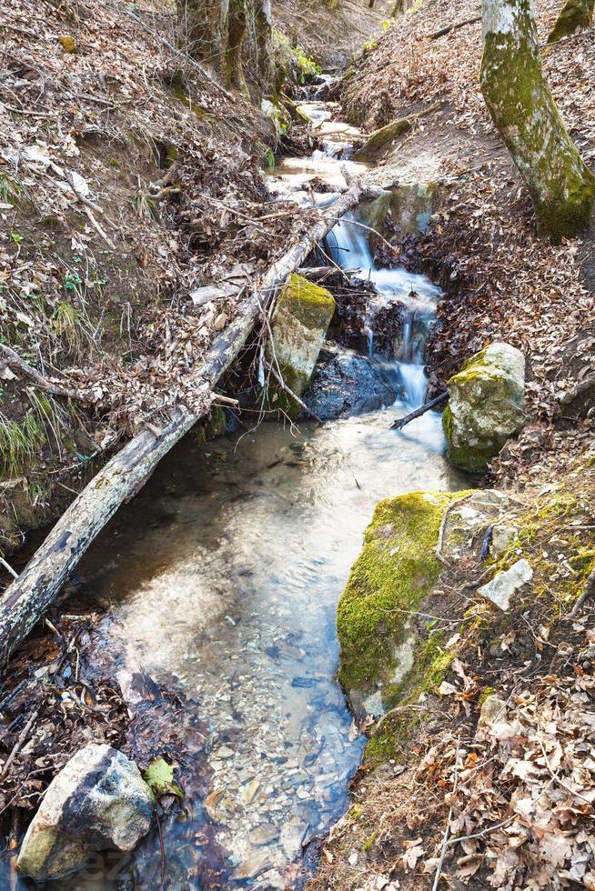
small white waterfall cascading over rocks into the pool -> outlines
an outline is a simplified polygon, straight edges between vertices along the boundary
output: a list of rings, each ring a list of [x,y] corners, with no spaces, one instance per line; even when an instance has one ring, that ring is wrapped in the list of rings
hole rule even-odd
[[[359,225],[361,223],[364,225]],[[366,318],[369,355],[374,353],[374,316],[378,310],[395,303],[404,306],[401,342],[395,363],[405,401],[411,408],[418,408],[423,405],[427,386],[424,349],[442,292],[425,275],[409,273],[402,267],[378,269],[365,225],[365,220],[357,214],[346,214],[334,226],[328,246],[335,263],[344,269],[358,268],[360,277],[372,281],[378,291]]]

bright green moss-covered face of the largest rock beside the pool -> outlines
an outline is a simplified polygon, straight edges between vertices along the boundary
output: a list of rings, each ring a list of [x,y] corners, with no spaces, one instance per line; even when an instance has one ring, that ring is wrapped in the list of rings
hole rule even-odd
[[[357,715],[380,714],[402,693],[411,670],[431,670],[421,658],[412,612],[439,576],[436,556],[444,512],[461,493],[414,492],[381,501],[337,610],[339,680]],[[421,666],[421,667],[420,667]]]

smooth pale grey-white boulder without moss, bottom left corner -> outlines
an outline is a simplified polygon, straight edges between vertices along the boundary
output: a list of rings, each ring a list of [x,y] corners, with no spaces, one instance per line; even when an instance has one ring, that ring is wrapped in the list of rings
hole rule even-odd
[[[148,832],[155,804],[136,764],[111,746],[90,744],[47,789],[16,868],[42,882],[80,869],[96,851],[131,851]]]

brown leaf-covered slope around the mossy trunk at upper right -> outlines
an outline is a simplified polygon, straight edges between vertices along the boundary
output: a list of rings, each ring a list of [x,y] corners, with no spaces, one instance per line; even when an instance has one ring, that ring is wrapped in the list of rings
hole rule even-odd
[[[560,3],[535,6],[544,47]],[[441,388],[463,357],[492,341],[528,356],[531,423],[494,464],[498,476],[527,481],[565,466],[592,437],[589,419],[570,431],[553,421],[565,414],[560,400],[595,371],[593,236],[557,246],[538,238],[529,195],[479,90],[479,12],[472,0],[413,5],[349,70],[343,102],[349,119],[370,131],[440,104],[372,176],[382,185],[426,179],[440,186],[428,233],[398,245],[399,261],[422,265],[447,293],[430,344],[434,385]],[[593,165],[592,28],[543,49],[543,62],[570,135]]]

